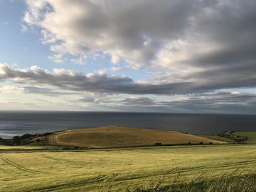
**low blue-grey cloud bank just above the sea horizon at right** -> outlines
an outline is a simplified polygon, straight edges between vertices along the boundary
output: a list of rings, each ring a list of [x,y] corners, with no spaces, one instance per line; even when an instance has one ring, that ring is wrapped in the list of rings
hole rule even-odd
[[[200,93],[161,104],[187,112],[256,113],[256,95],[252,93]]]

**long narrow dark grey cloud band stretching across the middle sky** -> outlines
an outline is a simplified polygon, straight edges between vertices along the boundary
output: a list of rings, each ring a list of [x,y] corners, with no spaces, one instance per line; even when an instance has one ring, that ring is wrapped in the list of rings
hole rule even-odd
[[[9,65],[0,65],[0,79],[12,79],[20,83],[30,83],[31,85],[50,85],[66,91],[89,91],[97,93],[127,93],[127,94],[187,94],[203,93],[219,88],[229,88],[233,85],[242,86],[244,82],[255,82],[254,77],[244,77],[244,82],[231,80],[230,84],[222,79],[211,77],[205,82],[172,82],[172,83],[139,83],[129,77],[108,76],[107,74],[83,74],[56,69],[50,73],[37,66],[32,66],[29,70],[15,69]],[[206,75],[206,74],[204,74]],[[233,81],[233,82],[232,82]],[[240,83],[240,84],[238,84]],[[247,84],[248,85],[248,84]],[[252,85],[252,84],[251,84]],[[38,88],[37,88],[37,91]],[[48,91],[49,92],[49,91]]]

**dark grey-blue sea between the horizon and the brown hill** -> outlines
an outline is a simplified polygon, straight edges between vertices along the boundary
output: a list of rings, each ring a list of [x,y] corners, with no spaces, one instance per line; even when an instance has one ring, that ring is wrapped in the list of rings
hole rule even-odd
[[[256,115],[170,114],[142,112],[0,112],[0,137],[36,134],[72,128],[132,126],[217,134],[256,131]]]

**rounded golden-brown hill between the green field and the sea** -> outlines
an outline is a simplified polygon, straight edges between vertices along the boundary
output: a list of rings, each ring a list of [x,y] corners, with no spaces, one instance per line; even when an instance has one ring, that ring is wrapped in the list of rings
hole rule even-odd
[[[48,135],[46,141],[51,145],[70,145],[80,147],[133,147],[171,144],[222,144],[223,141],[184,134],[178,131],[160,131],[143,128],[107,126],[59,131]]]

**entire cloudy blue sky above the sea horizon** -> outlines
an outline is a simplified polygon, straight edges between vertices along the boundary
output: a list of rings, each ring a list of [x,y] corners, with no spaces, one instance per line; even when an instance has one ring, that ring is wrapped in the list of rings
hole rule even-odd
[[[0,0],[0,110],[256,114],[254,0]]]

